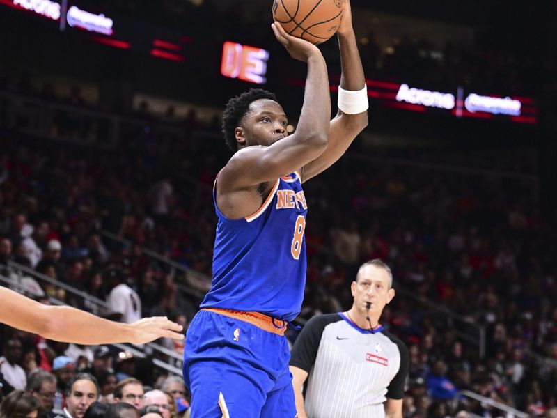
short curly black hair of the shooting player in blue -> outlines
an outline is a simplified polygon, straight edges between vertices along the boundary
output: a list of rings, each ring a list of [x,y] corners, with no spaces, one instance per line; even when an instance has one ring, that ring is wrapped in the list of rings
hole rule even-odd
[[[238,150],[234,130],[242,123],[242,119],[248,113],[249,105],[260,99],[277,101],[276,95],[270,91],[263,90],[262,88],[250,88],[249,91],[237,95],[235,98],[231,98],[228,100],[228,103],[226,103],[222,115],[222,132],[226,145],[233,150],[233,152]]]

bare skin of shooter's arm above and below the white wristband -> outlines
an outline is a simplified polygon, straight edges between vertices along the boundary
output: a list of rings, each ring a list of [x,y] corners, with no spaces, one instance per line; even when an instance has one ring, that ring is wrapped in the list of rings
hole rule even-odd
[[[340,87],[348,91],[359,91],[366,86],[366,78],[363,75],[356,36],[352,27],[352,11],[349,0],[344,0],[343,18],[336,33],[340,49],[340,61],[342,63]],[[327,150],[315,160],[306,164],[301,172],[302,180],[309,180],[331,167],[334,162],[343,156],[350,144],[352,144],[352,141],[354,141],[354,138],[367,125],[367,111],[359,114],[345,114],[339,109],[338,114],[331,121]]]

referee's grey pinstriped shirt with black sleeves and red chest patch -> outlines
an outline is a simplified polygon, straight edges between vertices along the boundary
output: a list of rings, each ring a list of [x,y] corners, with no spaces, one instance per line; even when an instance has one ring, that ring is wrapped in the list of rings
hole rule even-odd
[[[292,348],[290,365],[309,373],[309,418],[383,418],[386,398],[402,399],[408,350],[383,330],[362,330],[343,313],[315,316]]]

